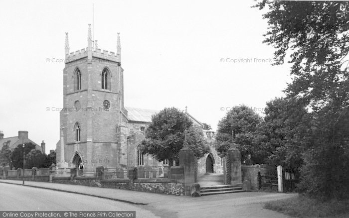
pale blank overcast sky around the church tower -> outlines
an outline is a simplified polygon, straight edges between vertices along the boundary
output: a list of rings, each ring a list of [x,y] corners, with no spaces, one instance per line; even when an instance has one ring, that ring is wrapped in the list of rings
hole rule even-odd
[[[45,140],[46,152],[55,149],[59,112],[46,107],[62,108],[64,63],[51,60],[64,59],[65,32],[70,52],[87,47],[92,3],[98,47],[116,52],[120,32],[126,106],[187,106],[215,129],[227,108],[260,111],[290,82],[289,65],[266,63],[274,49],[262,44],[267,21],[252,0],[7,0],[0,7],[4,137],[27,130],[34,142]]]

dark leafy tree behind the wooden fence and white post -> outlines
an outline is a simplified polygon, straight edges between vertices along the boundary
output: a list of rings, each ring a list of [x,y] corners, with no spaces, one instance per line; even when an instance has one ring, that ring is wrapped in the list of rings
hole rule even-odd
[[[298,169],[303,163],[302,151],[309,143],[311,114],[294,98],[275,98],[267,102],[264,112],[264,121],[254,136],[257,155],[269,165]]]

